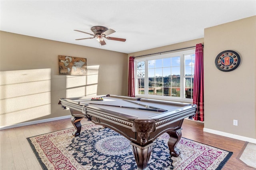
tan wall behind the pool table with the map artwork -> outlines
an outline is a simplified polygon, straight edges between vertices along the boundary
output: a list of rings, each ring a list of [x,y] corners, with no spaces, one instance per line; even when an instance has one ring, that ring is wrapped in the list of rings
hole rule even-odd
[[[87,59],[87,76],[58,75],[58,55]],[[127,95],[127,54],[0,32],[0,127],[70,115],[58,100]]]

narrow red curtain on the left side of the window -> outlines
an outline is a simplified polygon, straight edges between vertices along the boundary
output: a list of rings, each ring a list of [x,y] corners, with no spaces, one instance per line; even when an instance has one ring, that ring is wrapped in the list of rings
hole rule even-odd
[[[134,57],[129,57],[128,96],[130,97],[135,97],[134,81]]]

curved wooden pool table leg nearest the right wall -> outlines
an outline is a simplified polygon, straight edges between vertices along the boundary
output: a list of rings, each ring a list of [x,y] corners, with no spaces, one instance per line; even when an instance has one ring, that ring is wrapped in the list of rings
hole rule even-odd
[[[180,141],[181,130],[182,130],[182,128],[179,128],[177,130],[167,132],[170,136],[170,138],[168,140],[168,147],[169,147],[171,156],[175,156],[175,157],[180,156],[180,150],[176,147],[176,145]]]

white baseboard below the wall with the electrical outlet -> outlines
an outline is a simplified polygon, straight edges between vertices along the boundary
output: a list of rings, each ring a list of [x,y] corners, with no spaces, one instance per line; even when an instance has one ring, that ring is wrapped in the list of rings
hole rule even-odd
[[[256,144],[256,139],[254,139],[254,138],[248,138],[248,137],[245,137],[245,136],[239,136],[239,135],[236,135],[236,134],[221,132],[221,131],[212,130],[212,129],[209,129],[209,128],[204,128],[204,132],[218,134],[220,136],[226,136],[226,137],[229,137],[229,138],[234,138],[234,139],[243,140],[243,141],[246,141],[246,142]]]

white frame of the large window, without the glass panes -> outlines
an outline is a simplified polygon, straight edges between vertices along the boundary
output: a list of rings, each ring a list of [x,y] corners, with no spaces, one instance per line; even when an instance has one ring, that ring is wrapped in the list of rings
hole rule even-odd
[[[185,76],[185,55],[195,55],[195,49],[178,51],[173,53],[165,53],[160,55],[152,55],[150,57],[135,58],[134,59],[135,96],[192,103],[193,99],[185,98],[185,77],[194,77],[194,75]],[[154,59],[164,59],[164,58],[178,57],[178,56],[180,57],[180,63],[182,63],[180,64],[180,97],[172,97],[172,96],[164,96],[164,95],[148,95],[148,61],[154,60]],[[138,65],[137,64],[138,62],[141,62],[141,61],[145,62],[144,94],[138,94],[138,77],[137,77]],[[139,78],[142,78],[142,77],[139,77]]]

